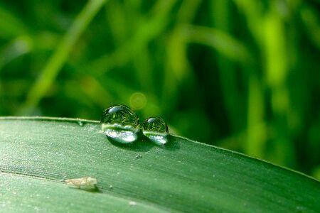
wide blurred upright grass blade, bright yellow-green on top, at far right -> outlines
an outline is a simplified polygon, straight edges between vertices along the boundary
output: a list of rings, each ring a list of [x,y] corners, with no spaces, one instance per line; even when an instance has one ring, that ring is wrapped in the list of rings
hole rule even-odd
[[[274,151],[270,158],[281,165],[293,166],[294,145],[290,138],[289,94],[286,85],[289,72],[287,37],[284,21],[273,5],[265,16],[265,58],[267,84],[271,89],[271,107],[274,116],[274,126],[277,126],[274,136]],[[284,155],[286,153],[286,155]]]

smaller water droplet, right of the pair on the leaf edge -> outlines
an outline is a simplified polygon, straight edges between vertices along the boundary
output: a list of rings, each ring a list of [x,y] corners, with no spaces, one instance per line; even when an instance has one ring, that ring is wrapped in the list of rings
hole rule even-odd
[[[142,124],[144,136],[149,138],[150,141],[164,145],[168,142],[168,126],[166,122],[159,117],[152,117],[146,119]]]

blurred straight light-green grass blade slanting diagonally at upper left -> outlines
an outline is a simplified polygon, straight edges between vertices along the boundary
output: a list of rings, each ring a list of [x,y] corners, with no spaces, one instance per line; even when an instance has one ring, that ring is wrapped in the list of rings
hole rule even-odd
[[[65,64],[68,59],[68,55],[72,50],[73,46],[77,42],[80,35],[85,31],[92,18],[100,10],[106,0],[91,0],[88,1],[78,17],[75,18],[73,25],[70,27],[68,32],[61,40],[55,53],[51,56],[48,63],[44,67],[41,75],[38,77],[36,82],[29,90],[26,102],[23,103],[18,114],[29,114],[34,107],[40,102],[47,90],[54,82],[61,67]]]

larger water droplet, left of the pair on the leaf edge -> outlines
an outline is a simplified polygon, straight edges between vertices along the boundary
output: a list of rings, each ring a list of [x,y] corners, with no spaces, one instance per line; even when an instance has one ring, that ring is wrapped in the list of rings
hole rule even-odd
[[[102,131],[105,132],[110,141],[133,143],[138,138],[138,116],[124,105],[116,105],[105,109],[101,124]]]

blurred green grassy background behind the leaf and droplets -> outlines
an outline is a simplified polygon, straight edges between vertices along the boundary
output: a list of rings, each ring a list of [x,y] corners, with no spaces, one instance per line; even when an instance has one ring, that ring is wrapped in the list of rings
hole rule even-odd
[[[171,132],[320,178],[319,0],[0,1],[0,115]]]

